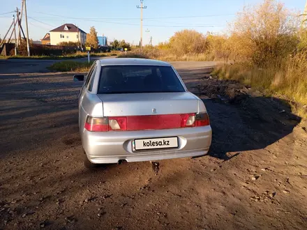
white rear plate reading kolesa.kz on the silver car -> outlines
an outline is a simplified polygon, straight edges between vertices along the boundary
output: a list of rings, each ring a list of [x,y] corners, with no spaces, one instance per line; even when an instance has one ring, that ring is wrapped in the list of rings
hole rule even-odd
[[[135,139],[133,145],[134,150],[178,148],[178,137]]]

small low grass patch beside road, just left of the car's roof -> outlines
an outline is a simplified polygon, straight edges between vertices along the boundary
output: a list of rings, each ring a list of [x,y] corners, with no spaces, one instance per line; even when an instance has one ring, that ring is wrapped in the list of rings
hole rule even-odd
[[[92,64],[93,61],[90,63],[87,63],[87,61],[60,61],[47,69],[54,72],[87,72]]]

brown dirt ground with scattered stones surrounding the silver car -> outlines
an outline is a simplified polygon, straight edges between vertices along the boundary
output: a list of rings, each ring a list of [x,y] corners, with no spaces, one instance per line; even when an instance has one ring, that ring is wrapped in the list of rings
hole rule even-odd
[[[209,155],[94,171],[72,75],[0,75],[0,229],[306,229],[306,123],[200,63],[174,66],[209,111]]]

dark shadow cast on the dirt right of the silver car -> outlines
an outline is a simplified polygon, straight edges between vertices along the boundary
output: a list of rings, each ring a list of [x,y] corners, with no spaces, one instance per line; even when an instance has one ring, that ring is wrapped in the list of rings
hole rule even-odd
[[[235,105],[204,100],[213,132],[209,155],[229,160],[241,151],[266,148],[292,133],[301,122],[278,98],[245,98]],[[234,155],[228,153],[234,152]],[[236,153],[237,152],[237,153]]]

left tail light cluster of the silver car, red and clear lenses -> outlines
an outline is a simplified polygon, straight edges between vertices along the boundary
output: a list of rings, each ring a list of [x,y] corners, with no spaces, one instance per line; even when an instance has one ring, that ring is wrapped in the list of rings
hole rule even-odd
[[[127,130],[127,118],[126,116],[112,118],[87,116],[84,128],[92,132]]]

